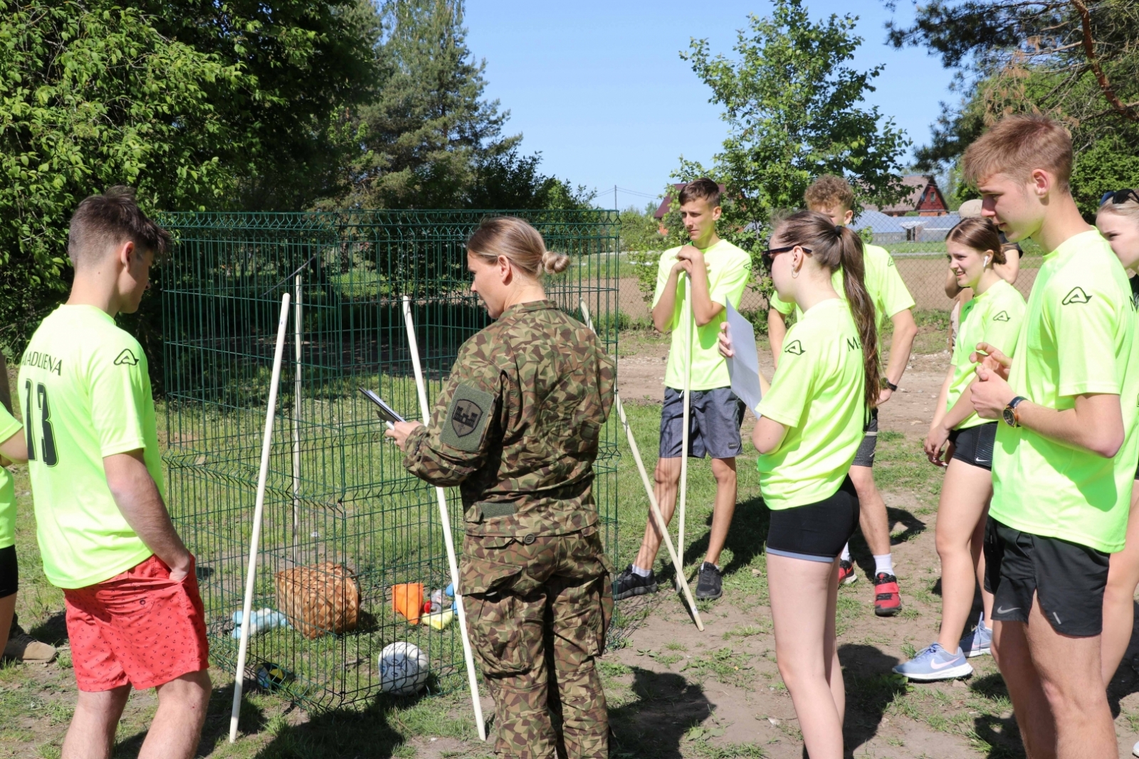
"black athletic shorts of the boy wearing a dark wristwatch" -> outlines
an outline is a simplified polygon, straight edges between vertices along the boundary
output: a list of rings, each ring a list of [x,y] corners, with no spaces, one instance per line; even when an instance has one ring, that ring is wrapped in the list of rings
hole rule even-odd
[[[1027,622],[1035,593],[1052,629],[1092,637],[1104,629],[1109,554],[1079,543],[985,522],[985,589],[993,619]]]

